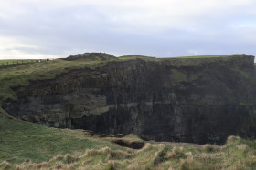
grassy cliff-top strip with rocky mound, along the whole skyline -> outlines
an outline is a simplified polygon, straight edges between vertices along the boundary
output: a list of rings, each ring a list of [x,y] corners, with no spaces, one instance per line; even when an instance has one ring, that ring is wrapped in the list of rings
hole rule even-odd
[[[247,58],[247,59],[245,59]],[[85,53],[83,55],[72,55],[66,60],[42,60],[40,63],[16,62],[14,60],[0,60],[0,105],[6,100],[16,100],[16,93],[13,88],[16,86],[27,86],[30,80],[42,80],[54,78],[62,73],[67,73],[75,69],[95,69],[110,62],[126,62],[131,60],[144,60],[147,62],[167,62],[168,65],[174,66],[197,66],[211,62],[236,61],[240,63],[254,62],[254,56],[250,55],[203,55],[203,56],[185,56],[170,58],[155,58],[143,55],[125,55],[115,57],[104,53]],[[6,62],[9,61],[9,65]],[[26,60],[24,60],[26,61]],[[30,60],[27,60],[30,61]],[[246,61],[246,62],[241,62]],[[12,64],[12,62],[14,64]],[[17,64],[18,63],[18,64]],[[5,64],[5,65],[3,65]]]

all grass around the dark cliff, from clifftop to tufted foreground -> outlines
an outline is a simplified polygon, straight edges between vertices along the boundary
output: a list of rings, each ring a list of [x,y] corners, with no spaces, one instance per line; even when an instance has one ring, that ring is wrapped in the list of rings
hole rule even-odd
[[[237,55],[154,58],[128,55],[119,58],[57,59],[42,63],[0,65],[0,104],[16,101],[14,87],[29,80],[54,78],[73,69],[131,59],[172,60],[175,65],[199,65],[229,60]],[[2,61],[3,62],[3,61]],[[141,149],[126,146],[143,143]],[[17,120],[0,108],[0,169],[254,169],[256,141],[230,136],[218,145],[189,145],[143,141],[134,135],[93,135],[84,130],[49,128]]]

